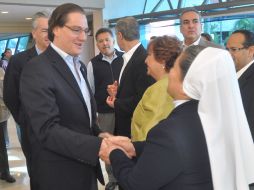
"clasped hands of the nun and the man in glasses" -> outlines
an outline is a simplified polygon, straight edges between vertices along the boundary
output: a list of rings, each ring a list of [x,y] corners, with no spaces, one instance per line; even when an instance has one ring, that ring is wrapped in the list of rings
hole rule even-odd
[[[106,164],[110,164],[109,155],[115,149],[122,150],[130,159],[136,156],[135,148],[128,137],[113,136],[113,135],[107,135],[106,137],[100,136],[100,137],[102,137],[103,140],[102,140],[100,151],[99,151],[99,157]]]

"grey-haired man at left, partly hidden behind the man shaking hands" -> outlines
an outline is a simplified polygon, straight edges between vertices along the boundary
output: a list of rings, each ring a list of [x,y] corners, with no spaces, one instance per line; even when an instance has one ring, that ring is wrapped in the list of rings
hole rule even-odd
[[[37,12],[34,15],[32,21],[32,36],[35,45],[31,49],[11,57],[4,78],[4,102],[17,123],[17,131],[18,135],[20,135],[21,147],[26,157],[27,170],[30,178],[33,176],[30,173],[31,155],[27,136],[28,123],[26,122],[25,113],[20,103],[19,82],[24,65],[33,57],[43,52],[50,43],[48,39],[48,18],[49,15],[46,12]],[[32,188],[32,180],[30,185]]]

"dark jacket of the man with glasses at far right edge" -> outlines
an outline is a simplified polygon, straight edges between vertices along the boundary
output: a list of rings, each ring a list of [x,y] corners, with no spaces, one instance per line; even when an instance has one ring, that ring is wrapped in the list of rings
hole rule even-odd
[[[243,107],[254,139],[254,63],[238,79]]]

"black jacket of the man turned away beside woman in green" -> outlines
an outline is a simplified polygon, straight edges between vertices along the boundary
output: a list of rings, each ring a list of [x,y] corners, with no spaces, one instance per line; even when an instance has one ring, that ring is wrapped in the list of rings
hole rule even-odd
[[[127,63],[115,101],[115,134],[130,137],[132,114],[154,80],[147,75],[146,50],[140,45]]]

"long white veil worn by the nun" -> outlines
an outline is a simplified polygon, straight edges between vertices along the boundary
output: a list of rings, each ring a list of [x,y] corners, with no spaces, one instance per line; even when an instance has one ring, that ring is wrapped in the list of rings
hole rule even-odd
[[[205,48],[191,64],[183,89],[199,100],[214,190],[249,190],[254,182],[254,144],[230,54]]]

